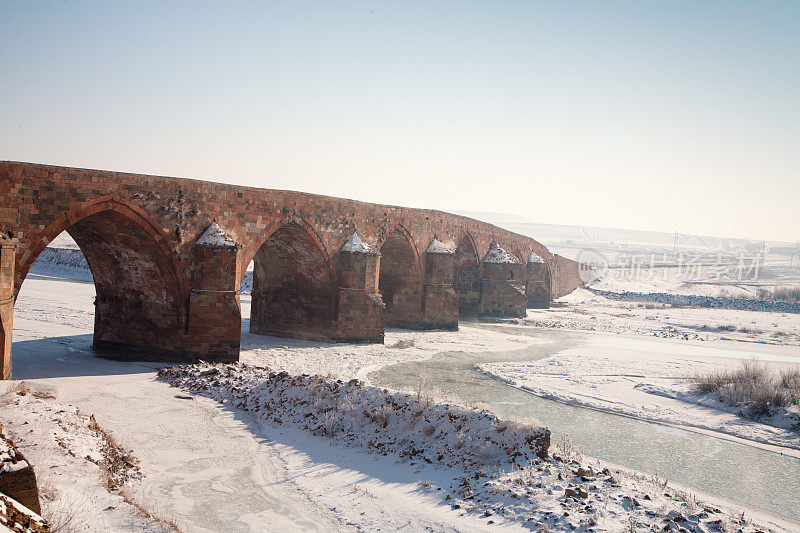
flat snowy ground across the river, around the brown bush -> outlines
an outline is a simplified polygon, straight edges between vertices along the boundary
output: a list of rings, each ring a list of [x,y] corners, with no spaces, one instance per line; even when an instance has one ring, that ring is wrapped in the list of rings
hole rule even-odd
[[[613,277],[607,274],[589,289],[648,289],[642,281],[609,279]],[[677,277],[659,283],[659,290],[671,294],[691,287]],[[704,286],[697,287],[701,290],[695,294],[704,294]],[[714,395],[694,394],[691,387],[693,378],[736,367],[742,359],[759,359],[775,370],[796,368],[800,365],[800,315],[626,301],[589,289],[575,290],[551,309],[532,309],[524,319],[503,321],[498,329],[591,331],[609,334],[607,338],[536,361],[483,364],[481,370],[564,403],[789,447],[792,450],[787,453],[800,456],[797,406],[754,422]],[[673,342],[658,345],[636,340],[654,337]]]

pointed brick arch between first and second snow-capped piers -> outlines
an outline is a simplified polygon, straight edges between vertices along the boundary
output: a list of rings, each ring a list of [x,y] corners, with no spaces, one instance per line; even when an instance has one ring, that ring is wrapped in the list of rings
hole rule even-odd
[[[271,226],[258,242],[250,332],[331,340],[337,283],[319,236],[304,220],[292,219]]]

